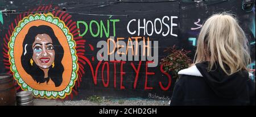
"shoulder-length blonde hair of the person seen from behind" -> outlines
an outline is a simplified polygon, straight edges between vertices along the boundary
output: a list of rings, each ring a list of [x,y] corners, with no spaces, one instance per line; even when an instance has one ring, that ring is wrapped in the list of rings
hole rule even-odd
[[[248,44],[236,18],[225,12],[214,14],[201,28],[194,64],[209,61],[208,69],[212,70],[218,62],[229,76],[242,69],[249,70],[246,67],[251,61]]]

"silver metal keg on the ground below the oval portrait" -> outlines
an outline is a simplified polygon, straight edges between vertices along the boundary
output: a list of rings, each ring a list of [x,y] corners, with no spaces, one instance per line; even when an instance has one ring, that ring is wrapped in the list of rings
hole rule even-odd
[[[33,101],[32,91],[20,91],[16,94],[16,102],[18,106],[33,106]]]

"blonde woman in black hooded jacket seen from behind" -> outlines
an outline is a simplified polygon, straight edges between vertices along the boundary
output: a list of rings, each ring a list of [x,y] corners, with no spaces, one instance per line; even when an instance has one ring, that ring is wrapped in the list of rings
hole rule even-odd
[[[180,70],[172,105],[255,105],[255,82],[246,66],[248,43],[230,14],[210,16],[201,28],[194,65]]]

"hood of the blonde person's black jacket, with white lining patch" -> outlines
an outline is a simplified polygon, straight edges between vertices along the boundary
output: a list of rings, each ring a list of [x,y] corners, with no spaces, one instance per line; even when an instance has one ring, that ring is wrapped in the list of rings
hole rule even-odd
[[[208,65],[208,62],[201,62],[181,70],[178,74],[204,78],[214,93],[222,98],[236,98],[245,90],[246,82],[249,80],[249,73],[246,70],[228,76],[220,65],[216,64],[210,71],[208,71]]]

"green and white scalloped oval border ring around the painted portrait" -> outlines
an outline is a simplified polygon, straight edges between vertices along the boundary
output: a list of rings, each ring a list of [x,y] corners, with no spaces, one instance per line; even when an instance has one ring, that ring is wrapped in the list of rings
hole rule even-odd
[[[46,22],[55,24],[57,27],[64,32],[65,36],[67,37],[69,49],[71,51],[72,56],[72,74],[71,74],[71,81],[68,83],[68,86],[65,87],[62,91],[46,91],[46,90],[36,90],[32,87],[28,86],[20,77],[18,70],[16,69],[15,60],[14,60],[14,41],[16,36],[22,30],[22,28],[27,24],[34,20],[44,20]],[[65,23],[60,20],[58,17],[53,16],[51,13],[48,14],[31,14],[20,20],[18,26],[15,27],[13,34],[10,37],[10,41],[8,43],[9,47],[9,61],[10,61],[10,70],[14,73],[14,78],[18,82],[18,85],[22,88],[22,90],[32,91],[34,97],[39,98],[47,98],[47,99],[56,99],[61,98],[64,99],[66,95],[71,94],[72,88],[75,85],[77,80],[77,71],[79,69],[77,64],[77,55],[76,55],[76,43],[73,40],[73,35],[69,32],[69,28],[65,26]]]

